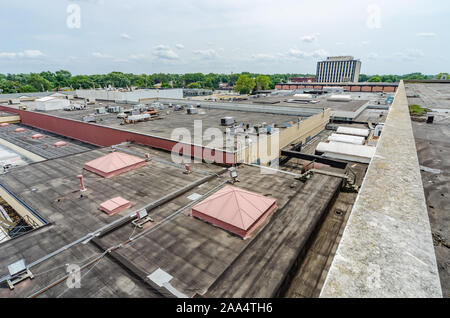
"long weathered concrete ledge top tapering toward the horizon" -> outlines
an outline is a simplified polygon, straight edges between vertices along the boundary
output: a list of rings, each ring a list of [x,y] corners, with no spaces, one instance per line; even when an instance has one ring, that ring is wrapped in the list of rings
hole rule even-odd
[[[442,297],[403,82],[320,297]]]

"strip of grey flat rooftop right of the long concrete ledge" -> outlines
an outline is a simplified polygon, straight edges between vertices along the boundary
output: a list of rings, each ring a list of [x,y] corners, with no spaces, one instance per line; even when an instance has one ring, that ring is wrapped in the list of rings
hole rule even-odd
[[[450,83],[405,84],[410,105],[433,110],[433,124],[412,122],[443,297],[450,297]],[[417,96],[417,97],[413,97]]]

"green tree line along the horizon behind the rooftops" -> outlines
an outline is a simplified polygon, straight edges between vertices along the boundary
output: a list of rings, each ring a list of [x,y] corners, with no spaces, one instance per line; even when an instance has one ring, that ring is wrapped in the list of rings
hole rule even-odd
[[[411,73],[406,75],[373,75],[361,74],[360,82],[398,82],[402,79],[432,79],[448,76],[440,73],[437,76]],[[69,71],[41,72],[30,74],[0,74],[0,93],[31,93],[58,91],[67,89],[89,89],[105,87],[137,87],[154,88],[160,84],[162,88],[205,88],[218,89],[220,84],[235,87],[235,91],[247,94],[255,90],[273,89],[277,83],[287,83],[291,77],[311,77],[314,74],[257,74],[257,73],[187,73],[187,74],[131,74],[111,72],[96,75],[72,75]],[[159,86],[159,85],[158,85]]]

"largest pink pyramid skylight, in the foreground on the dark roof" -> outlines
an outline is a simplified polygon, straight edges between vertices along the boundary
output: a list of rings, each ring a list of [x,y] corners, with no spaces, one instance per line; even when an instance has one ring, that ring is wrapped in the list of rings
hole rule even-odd
[[[192,208],[192,216],[247,237],[277,208],[277,200],[225,186]]]

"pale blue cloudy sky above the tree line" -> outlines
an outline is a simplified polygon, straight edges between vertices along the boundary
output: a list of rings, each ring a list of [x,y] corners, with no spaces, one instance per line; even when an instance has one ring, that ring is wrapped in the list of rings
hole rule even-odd
[[[0,73],[450,72],[448,0],[0,0]]]

